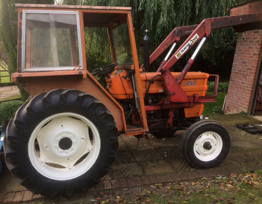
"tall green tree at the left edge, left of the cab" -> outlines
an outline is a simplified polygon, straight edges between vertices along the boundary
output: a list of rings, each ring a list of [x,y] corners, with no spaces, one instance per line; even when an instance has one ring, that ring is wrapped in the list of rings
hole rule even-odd
[[[17,25],[10,23],[18,19],[15,3],[54,4],[54,0],[0,0],[0,36],[8,55],[9,75],[17,69]],[[26,92],[21,92],[21,94],[24,99]]]

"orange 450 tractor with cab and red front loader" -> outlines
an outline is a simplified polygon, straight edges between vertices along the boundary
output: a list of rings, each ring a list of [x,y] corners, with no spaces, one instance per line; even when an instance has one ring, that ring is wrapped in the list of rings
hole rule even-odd
[[[108,173],[120,134],[139,141],[149,140],[148,133],[161,138],[177,130],[186,130],[182,150],[192,166],[219,165],[229,152],[229,134],[218,122],[199,118],[203,103],[215,102],[218,76],[210,96],[210,75],[188,71],[211,30],[261,28],[261,1],[249,5],[231,8],[231,16],[175,28],[151,56],[145,30],[144,65],[139,66],[131,8],[16,4],[18,68],[12,78],[32,97],[10,120],[4,139],[13,176],[35,194],[69,196],[86,191]],[[88,27],[108,30],[113,63],[91,73]],[[130,41],[121,42],[123,34]],[[170,72],[200,40],[184,70]],[[169,47],[157,72],[148,72]],[[108,91],[93,75],[105,76]]]

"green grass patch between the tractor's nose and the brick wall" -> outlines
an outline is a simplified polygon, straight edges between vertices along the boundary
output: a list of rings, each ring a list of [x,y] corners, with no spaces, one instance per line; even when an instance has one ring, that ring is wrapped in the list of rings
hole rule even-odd
[[[206,94],[213,94],[212,92],[207,92]],[[218,93],[217,103],[204,103],[205,108],[202,113],[203,116],[208,115],[219,115],[222,114],[222,107],[224,103],[226,93]]]

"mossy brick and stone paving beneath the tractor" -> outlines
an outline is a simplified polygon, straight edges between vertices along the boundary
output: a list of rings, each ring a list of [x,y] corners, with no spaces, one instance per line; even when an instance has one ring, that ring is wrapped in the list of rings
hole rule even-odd
[[[224,117],[224,116],[223,116]],[[243,119],[244,118],[244,119]],[[236,118],[235,118],[236,119]],[[190,166],[183,157],[180,150],[183,131],[178,131],[173,137],[168,139],[151,138],[155,144],[154,150],[137,151],[135,138],[119,137],[120,150],[118,157],[112,164],[109,173],[101,179],[101,182],[88,189],[88,192],[125,189],[128,187],[152,185],[159,183],[170,183],[176,181],[194,180],[203,177],[215,177],[217,175],[230,175],[231,173],[241,173],[243,168],[260,170],[262,169],[261,145],[262,140],[257,140],[261,135],[250,135],[245,131],[233,128],[229,124],[230,119],[223,119],[221,123],[230,129],[231,150],[218,167],[211,169],[196,169]],[[250,117],[237,117],[238,123],[249,123]],[[255,120],[254,124],[259,124]],[[239,140],[250,140],[239,143]],[[167,141],[166,141],[167,140]],[[245,145],[242,147],[241,145]],[[141,145],[148,145],[147,141],[141,140]],[[260,148],[259,148],[260,147]],[[254,148],[254,150],[253,150]],[[245,154],[244,154],[245,153]],[[4,173],[4,172],[3,172]],[[4,173],[8,176],[8,173]],[[8,181],[0,177],[0,182],[5,185]],[[41,195],[34,195],[30,191],[20,190],[22,187],[12,181],[13,189],[0,192],[0,203],[20,203],[34,199],[44,198]],[[16,190],[17,189],[17,190]]]

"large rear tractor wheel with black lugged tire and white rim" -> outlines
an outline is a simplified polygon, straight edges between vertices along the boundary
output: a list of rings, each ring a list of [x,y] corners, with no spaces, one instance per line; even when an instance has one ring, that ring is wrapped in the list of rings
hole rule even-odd
[[[56,89],[27,101],[10,120],[6,163],[35,194],[70,196],[100,182],[116,158],[118,129],[91,95]]]

